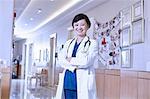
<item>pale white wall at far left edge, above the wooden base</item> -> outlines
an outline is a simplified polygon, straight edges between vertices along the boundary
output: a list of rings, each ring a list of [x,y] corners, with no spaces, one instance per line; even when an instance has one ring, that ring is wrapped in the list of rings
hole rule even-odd
[[[0,59],[11,63],[14,0],[0,0]]]

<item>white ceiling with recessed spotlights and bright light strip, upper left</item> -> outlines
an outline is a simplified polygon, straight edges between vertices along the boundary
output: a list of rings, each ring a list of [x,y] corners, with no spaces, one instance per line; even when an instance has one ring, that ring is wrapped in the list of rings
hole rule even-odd
[[[15,0],[14,34],[19,37],[46,25],[54,26],[58,21],[67,22],[75,12],[85,12],[106,1],[109,0]],[[42,12],[39,13],[38,10]]]

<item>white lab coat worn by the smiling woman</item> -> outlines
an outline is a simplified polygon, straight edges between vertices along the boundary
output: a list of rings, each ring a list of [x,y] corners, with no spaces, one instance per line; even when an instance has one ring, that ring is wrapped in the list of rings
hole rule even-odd
[[[59,85],[57,87],[56,99],[64,99],[63,96],[63,82],[64,74],[66,69],[74,71],[75,66],[78,66],[77,69],[77,96],[78,99],[96,99],[96,83],[95,83],[95,70],[94,70],[94,60],[98,54],[98,45],[97,42],[93,39],[88,41],[86,36],[81,42],[76,57],[73,57],[70,62],[66,60],[66,57],[71,57],[73,48],[76,42],[74,40],[68,40],[62,51],[58,54],[58,63],[64,68],[64,72],[59,75]]]

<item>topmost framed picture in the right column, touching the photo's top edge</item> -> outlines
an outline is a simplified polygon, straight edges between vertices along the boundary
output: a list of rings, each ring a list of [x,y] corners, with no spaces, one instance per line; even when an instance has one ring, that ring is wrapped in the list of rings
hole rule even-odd
[[[144,1],[140,0],[132,5],[132,21],[136,21],[144,17]]]

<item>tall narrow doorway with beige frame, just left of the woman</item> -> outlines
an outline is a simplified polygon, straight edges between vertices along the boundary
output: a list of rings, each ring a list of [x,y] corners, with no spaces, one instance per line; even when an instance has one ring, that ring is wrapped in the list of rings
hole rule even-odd
[[[57,34],[54,33],[50,35],[50,62],[48,66],[48,83],[50,87],[55,87],[56,46],[57,46]]]

